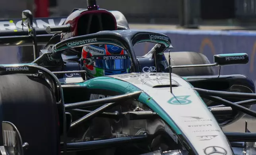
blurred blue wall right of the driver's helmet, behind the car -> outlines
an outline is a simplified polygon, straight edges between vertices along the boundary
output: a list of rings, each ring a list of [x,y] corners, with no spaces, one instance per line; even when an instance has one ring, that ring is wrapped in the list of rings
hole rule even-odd
[[[256,32],[249,31],[208,31],[208,30],[150,30],[161,32],[171,38],[171,51],[194,51],[206,55],[213,62],[213,55],[223,53],[247,53],[249,63],[223,66],[221,74],[244,74],[256,84]],[[136,55],[142,56],[153,47],[142,43],[135,47]],[[167,52],[167,51],[166,51]],[[217,74],[215,67],[215,74]]]

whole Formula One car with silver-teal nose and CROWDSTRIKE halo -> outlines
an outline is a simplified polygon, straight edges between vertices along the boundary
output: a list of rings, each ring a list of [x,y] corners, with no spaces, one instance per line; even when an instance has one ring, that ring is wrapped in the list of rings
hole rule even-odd
[[[246,53],[215,55],[213,64],[174,66],[171,53],[163,53],[172,48],[168,36],[117,30],[112,16],[89,1],[87,9],[70,14],[72,20],[68,17],[63,25],[46,28],[55,34],[33,62],[0,66],[2,155],[256,153],[256,133],[221,130],[245,113],[256,117],[250,110],[256,103],[251,79],[173,73],[180,68],[246,64]],[[103,26],[111,25],[110,17],[112,27]],[[95,18],[102,20],[100,31],[90,23]],[[78,23],[86,20],[92,29],[85,24],[79,28]],[[25,45],[33,41],[36,47],[49,38],[36,34],[30,11],[23,11],[22,23],[29,35],[19,36],[22,30],[5,31],[0,42]],[[133,47],[142,42],[156,45],[138,58]],[[36,48],[35,55],[39,55]],[[149,62],[155,69],[144,73],[143,65]]]

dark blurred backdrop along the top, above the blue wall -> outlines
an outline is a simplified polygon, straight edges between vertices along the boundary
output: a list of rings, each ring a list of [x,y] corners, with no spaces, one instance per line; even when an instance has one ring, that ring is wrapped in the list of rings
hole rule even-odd
[[[122,12],[129,23],[255,28],[255,0],[97,0],[97,4]],[[8,0],[0,2],[0,18],[20,18],[24,9],[35,17],[67,16],[73,8],[86,7],[86,0]]]

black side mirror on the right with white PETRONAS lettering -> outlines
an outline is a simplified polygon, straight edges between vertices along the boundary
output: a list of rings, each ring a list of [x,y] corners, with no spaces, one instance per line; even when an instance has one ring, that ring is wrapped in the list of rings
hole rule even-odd
[[[218,54],[213,56],[214,63],[219,66],[231,64],[247,64],[249,57],[246,53]]]

